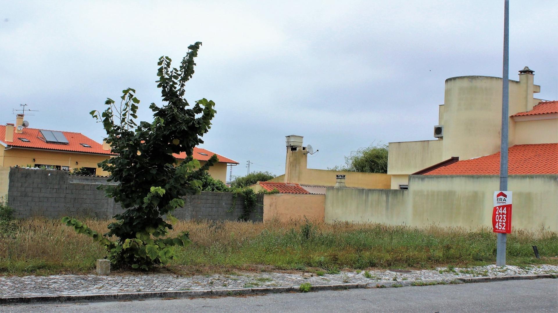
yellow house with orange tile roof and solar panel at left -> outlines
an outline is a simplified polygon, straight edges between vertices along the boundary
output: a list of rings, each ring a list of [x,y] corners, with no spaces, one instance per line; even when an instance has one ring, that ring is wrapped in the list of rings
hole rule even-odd
[[[28,128],[29,123],[18,114],[16,124],[0,125],[0,194],[7,193],[9,167],[45,167],[47,169],[73,170],[85,168],[91,174],[108,175],[98,163],[110,158],[108,144],[100,144],[81,133]],[[203,165],[214,153],[194,148],[194,158]],[[215,179],[225,182],[227,165],[238,162],[217,154],[219,162],[208,170]],[[184,155],[175,155],[184,159]]]

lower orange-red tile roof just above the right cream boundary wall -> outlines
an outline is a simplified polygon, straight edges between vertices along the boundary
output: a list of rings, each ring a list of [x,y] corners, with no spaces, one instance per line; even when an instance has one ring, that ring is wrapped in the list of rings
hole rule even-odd
[[[500,153],[463,160],[424,175],[498,175]],[[514,145],[508,149],[508,174],[558,174],[558,143]]]

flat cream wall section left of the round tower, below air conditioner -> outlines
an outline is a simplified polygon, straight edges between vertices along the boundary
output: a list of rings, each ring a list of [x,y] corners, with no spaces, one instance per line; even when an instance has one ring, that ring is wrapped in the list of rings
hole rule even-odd
[[[408,175],[442,162],[443,144],[444,140],[389,143],[387,173]]]

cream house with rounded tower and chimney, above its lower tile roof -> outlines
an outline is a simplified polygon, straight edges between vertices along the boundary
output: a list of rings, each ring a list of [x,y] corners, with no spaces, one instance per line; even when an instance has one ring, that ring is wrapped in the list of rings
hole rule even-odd
[[[519,71],[519,81],[509,80],[511,147],[558,143],[557,102],[533,97],[541,89],[533,84],[533,72],[526,66]],[[497,153],[502,120],[502,79],[489,76],[447,79],[438,120],[438,125],[434,126],[435,140],[389,143],[391,189],[408,188],[411,174],[425,174],[458,160]]]

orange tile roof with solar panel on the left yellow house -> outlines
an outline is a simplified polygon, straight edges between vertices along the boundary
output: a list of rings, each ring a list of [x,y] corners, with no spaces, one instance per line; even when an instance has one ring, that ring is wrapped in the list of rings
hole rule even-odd
[[[61,131],[66,139],[68,139],[68,144],[53,144],[47,143],[45,140],[42,140],[42,136],[39,133],[40,129],[36,128],[23,128],[22,133],[13,133],[13,141],[6,141],[6,126],[0,125],[0,141],[4,144],[14,147],[20,148],[33,148],[33,149],[49,149],[49,150],[59,150],[59,151],[69,151],[69,152],[83,152],[83,153],[93,153],[93,154],[106,154],[114,155],[110,153],[108,150],[103,150],[103,145],[98,143],[97,141],[85,136],[81,133],[73,133],[71,131]],[[20,138],[27,139],[27,141],[22,141]],[[87,144],[90,145],[91,148],[86,148],[80,144]],[[202,154],[203,153],[203,154]],[[204,155],[206,154],[206,155]],[[216,154],[209,150],[202,149],[202,148],[194,148],[194,159],[199,161],[207,161],[211,157],[211,155]],[[183,152],[180,155],[175,154],[175,158],[177,159],[184,159],[186,157],[186,153]],[[219,163],[232,163],[232,164],[239,164],[235,160],[225,158],[225,156],[217,154],[219,158]]]

